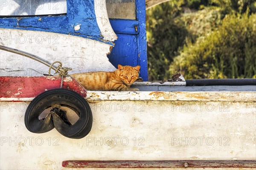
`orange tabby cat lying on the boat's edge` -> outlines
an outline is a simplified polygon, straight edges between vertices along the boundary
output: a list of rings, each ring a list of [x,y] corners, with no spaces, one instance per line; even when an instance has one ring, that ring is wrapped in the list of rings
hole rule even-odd
[[[87,73],[71,74],[85,89],[90,91],[139,91],[130,88],[130,85],[139,77],[140,65],[118,65],[113,72],[96,71]]]

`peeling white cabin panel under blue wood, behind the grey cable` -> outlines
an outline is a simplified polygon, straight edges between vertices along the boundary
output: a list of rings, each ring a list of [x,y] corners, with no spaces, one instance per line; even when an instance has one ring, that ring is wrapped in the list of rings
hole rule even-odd
[[[65,34],[5,28],[0,28],[0,37],[1,43],[11,48],[35,54],[49,62],[61,61],[64,67],[73,68],[69,74],[116,69],[107,57],[111,45],[99,41]],[[0,63],[0,76],[43,76],[48,74],[49,69],[35,60],[2,50]]]

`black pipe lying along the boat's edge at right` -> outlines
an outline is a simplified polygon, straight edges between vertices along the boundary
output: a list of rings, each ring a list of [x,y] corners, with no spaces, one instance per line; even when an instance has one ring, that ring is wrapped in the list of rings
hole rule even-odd
[[[256,85],[256,79],[191,79],[186,80],[186,86],[208,85]]]

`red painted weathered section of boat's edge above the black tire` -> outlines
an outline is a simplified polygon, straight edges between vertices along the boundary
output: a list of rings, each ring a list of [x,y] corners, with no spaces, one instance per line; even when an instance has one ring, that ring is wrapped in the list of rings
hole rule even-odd
[[[75,79],[64,78],[62,88],[86,97],[85,88]],[[61,77],[0,77],[0,98],[31,98],[61,87]]]

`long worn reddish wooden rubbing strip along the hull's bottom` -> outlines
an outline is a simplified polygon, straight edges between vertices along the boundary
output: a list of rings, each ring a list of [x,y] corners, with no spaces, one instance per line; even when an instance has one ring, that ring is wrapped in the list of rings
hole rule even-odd
[[[256,168],[256,161],[63,161],[70,168]]]

